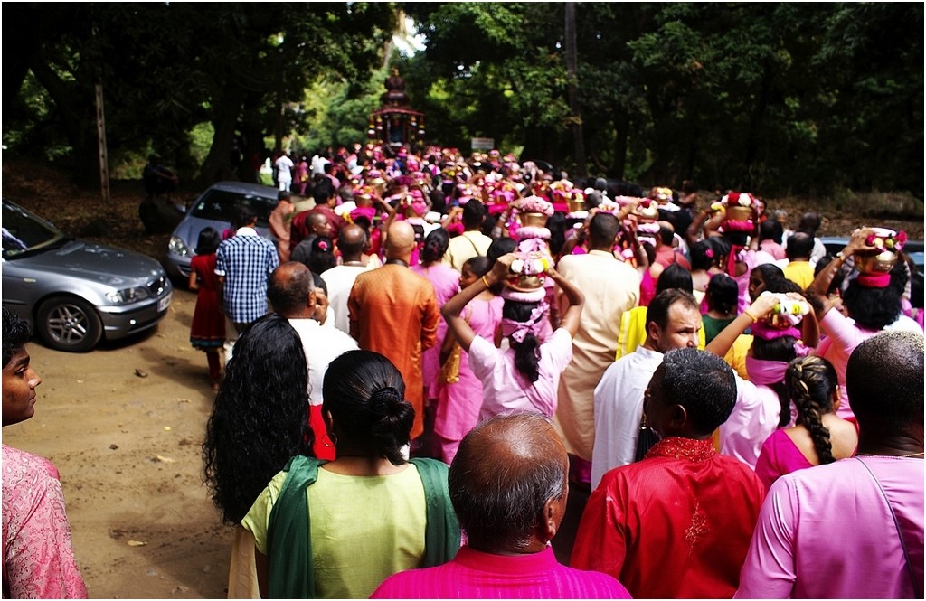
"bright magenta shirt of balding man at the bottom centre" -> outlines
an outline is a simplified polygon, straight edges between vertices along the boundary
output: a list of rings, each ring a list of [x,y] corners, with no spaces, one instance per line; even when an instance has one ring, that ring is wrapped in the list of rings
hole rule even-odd
[[[469,546],[436,568],[407,570],[382,582],[371,599],[629,599],[607,574],[557,562],[551,547],[540,553],[501,556]]]

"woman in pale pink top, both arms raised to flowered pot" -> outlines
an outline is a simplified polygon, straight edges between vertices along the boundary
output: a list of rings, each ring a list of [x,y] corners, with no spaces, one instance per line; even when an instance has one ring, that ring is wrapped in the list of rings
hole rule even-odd
[[[567,282],[552,266],[546,275],[557,282],[569,301],[559,327],[544,344],[537,340],[539,324],[546,318],[544,288],[517,292],[506,286],[502,291],[502,335],[507,350],[495,348],[491,341],[473,331],[460,312],[470,300],[496,282],[506,282],[511,264],[519,256],[499,257],[492,271],[466,287],[441,309],[449,332],[469,353],[469,366],[482,382],[480,420],[507,412],[539,411],[547,418],[557,409],[559,376],[572,358],[572,337],[579,329],[585,296]]]

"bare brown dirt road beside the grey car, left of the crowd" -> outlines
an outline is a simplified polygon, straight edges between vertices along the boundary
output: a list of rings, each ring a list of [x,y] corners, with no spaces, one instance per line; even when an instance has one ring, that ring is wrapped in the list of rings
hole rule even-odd
[[[202,484],[215,393],[188,342],[194,303],[178,290],[155,331],[89,354],[29,345],[43,381],[35,416],[3,442],[60,471],[91,597],[226,595],[232,538]]]

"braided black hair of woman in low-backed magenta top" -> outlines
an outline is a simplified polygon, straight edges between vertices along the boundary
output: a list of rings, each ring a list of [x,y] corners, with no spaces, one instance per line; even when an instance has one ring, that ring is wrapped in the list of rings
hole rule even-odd
[[[832,396],[839,385],[836,369],[823,357],[796,357],[788,364],[784,382],[797,407],[797,423],[810,433],[820,465],[832,463],[830,431],[823,425],[823,415],[832,412]]]

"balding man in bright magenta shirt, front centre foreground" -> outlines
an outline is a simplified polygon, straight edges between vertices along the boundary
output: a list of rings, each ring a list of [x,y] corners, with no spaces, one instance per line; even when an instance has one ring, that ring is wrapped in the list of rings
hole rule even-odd
[[[548,545],[566,512],[569,460],[539,413],[466,435],[447,477],[467,544],[449,563],[399,572],[371,598],[627,599],[613,577],[560,565]]]

